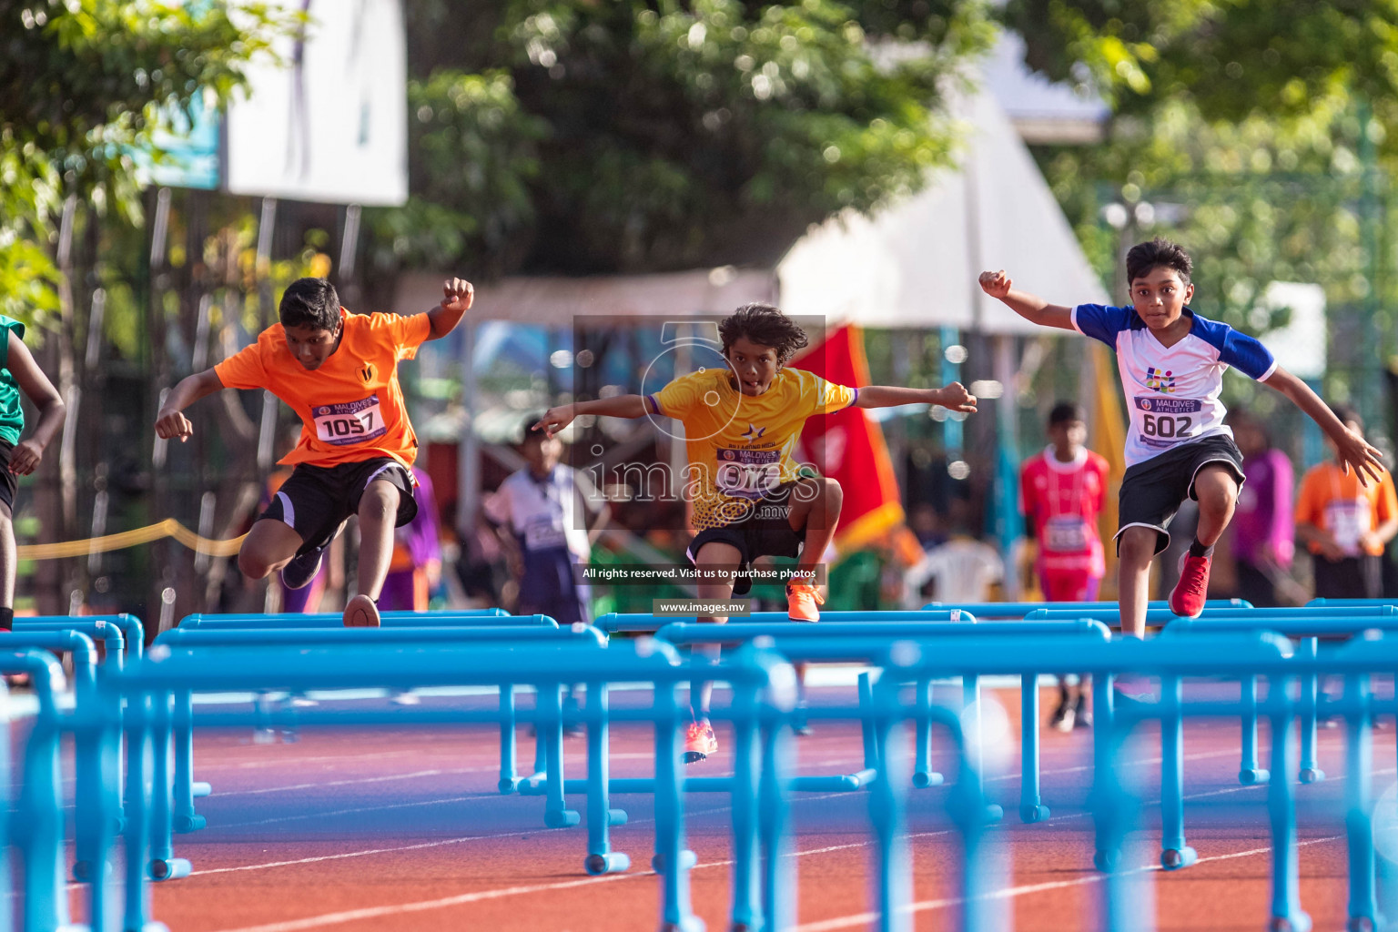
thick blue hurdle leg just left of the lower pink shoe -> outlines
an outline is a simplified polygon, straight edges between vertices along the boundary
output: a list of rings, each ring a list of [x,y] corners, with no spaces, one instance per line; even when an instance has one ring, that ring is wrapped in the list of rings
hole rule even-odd
[[[703,932],[689,901],[695,852],[685,848],[684,777],[679,773],[679,703],[675,685],[656,686],[656,858],[660,932]]]

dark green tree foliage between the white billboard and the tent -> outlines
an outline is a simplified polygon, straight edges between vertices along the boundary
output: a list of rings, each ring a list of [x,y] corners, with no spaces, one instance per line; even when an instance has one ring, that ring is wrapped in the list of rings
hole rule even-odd
[[[499,0],[410,17],[412,203],[380,263],[603,272],[772,261],[952,158],[980,0]],[[443,36],[474,36],[446,42]]]

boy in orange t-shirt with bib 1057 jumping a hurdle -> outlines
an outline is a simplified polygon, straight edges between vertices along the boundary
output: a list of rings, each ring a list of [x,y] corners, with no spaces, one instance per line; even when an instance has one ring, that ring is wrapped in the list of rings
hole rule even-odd
[[[281,323],[180,380],[155,419],[158,436],[187,440],[193,426],[183,409],[219,388],[266,388],[301,416],[301,442],[281,460],[295,471],[249,531],[238,569],[256,580],[281,570],[288,588],[301,588],[345,520],[358,514],[358,591],[344,609],[350,627],[379,625],[393,528],[417,514],[418,437],[403,404],[398,361],[452,333],[475,293],[460,278],[443,292],[424,314],[351,314],[329,281],[299,278],[281,296]]]

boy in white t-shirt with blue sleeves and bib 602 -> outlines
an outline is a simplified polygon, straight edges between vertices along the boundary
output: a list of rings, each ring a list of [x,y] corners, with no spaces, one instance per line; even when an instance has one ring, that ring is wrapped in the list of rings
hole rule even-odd
[[[1145,634],[1151,560],[1170,542],[1166,528],[1186,496],[1199,503],[1199,525],[1181,560],[1170,609],[1187,618],[1204,611],[1213,544],[1233,517],[1244,479],[1243,456],[1219,401],[1230,366],[1310,415],[1360,482],[1366,475],[1378,479],[1380,453],[1342,425],[1304,381],[1278,366],[1267,347],[1190,310],[1191,270],[1188,254],[1165,239],[1134,246],[1127,253],[1130,307],[1050,305],[1011,288],[1004,270],[980,275],[981,289],[1021,317],[1076,330],[1117,354],[1131,412],[1116,534],[1121,630],[1137,637]]]

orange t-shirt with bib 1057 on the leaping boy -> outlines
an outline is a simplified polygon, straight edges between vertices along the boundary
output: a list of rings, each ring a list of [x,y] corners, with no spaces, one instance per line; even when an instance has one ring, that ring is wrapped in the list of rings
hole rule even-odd
[[[301,416],[301,442],[280,460],[333,467],[393,457],[412,465],[418,436],[398,386],[398,361],[432,334],[426,314],[351,314],[340,309],[340,347],[315,372],[287,347],[281,324],[214,366],[226,388],[266,388]]]

